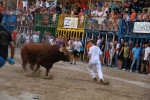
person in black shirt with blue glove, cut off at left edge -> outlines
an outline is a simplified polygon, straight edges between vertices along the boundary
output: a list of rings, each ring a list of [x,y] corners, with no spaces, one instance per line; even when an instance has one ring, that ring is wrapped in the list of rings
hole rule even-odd
[[[0,14],[0,23],[2,23],[3,15]],[[11,58],[8,59],[9,64],[14,64],[15,46],[11,33],[0,25],[0,68],[3,67],[8,57],[8,45],[11,48]]]

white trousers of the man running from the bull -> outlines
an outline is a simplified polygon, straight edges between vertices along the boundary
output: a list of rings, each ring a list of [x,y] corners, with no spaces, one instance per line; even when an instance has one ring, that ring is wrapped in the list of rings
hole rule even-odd
[[[100,60],[89,61],[88,63],[87,69],[89,70],[90,75],[92,76],[92,78],[96,78],[95,73],[92,69],[93,66],[96,66],[98,77],[104,80]]]

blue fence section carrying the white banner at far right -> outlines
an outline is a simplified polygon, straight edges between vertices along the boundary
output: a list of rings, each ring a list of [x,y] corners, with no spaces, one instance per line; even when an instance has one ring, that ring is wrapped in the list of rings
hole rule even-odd
[[[119,34],[118,34],[118,40],[124,39],[125,42],[128,42],[129,40],[132,40],[133,43],[144,43],[150,40],[150,28],[149,25],[143,24],[145,22],[142,22],[138,29],[146,30],[141,32],[134,32],[134,25],[136,22],[125,22],[125,20],[120,21],[119,26]],[[143,25],[144,27],[143,27]],[[149,32],[148,32],[149,31]]]

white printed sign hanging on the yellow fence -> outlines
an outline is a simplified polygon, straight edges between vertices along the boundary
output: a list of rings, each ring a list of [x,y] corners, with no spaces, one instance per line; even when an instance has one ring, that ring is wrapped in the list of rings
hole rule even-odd
[[[65,17],[64,28],[77,28],[78,18]]]

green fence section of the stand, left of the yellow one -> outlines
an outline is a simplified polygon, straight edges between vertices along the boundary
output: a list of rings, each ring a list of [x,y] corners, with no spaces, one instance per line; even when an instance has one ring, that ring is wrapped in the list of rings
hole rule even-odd
[[[58,23],[58,15],[56,14],[37,14],[35,16],[34,29],[40,31],[41,34],[45,32],[51,32],[52,35],[56,35]]]

